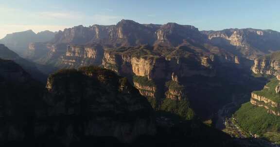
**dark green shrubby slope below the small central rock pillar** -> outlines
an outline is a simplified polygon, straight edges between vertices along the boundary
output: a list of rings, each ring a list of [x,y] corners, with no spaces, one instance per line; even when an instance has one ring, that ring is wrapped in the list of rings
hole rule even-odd
[[[175,101],[164,99],[160,106],[160,110],[174,113],[186,120],[191,120],[194,117],[194,112],[190,108],[190,104],[187,100]]]

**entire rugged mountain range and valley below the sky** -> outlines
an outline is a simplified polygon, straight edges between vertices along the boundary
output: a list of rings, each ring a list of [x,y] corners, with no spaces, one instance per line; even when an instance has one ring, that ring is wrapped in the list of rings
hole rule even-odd
[[[24,73],[28,77],[24,81],[38,80],[35,71],[49,74],[48,80],[44,77],[46,88],[44,84],[35,86],[41,88],[37,90],[41,91],[41,95],[37,95],[40,102],[36,103],[42,104],[40,107],[46,110],[33,107],[30,110],[40,113],[35,115],[35,120],[52,120],[39,123],[40,127],[48,128],[36,132],[41,135],[52,136],[57,133],[53,124],[62,123],[68,129],[59,125],[61,134],[54,138],[64,138],[70,144],[80,143],[85,136],[92,135],[110,136],[118,142],[149,141],[147,135],[153,136],[155,142],[160,142],[160,137],[180,142],[184,137],[174,138],[172,133],[176,132],[176,127],[186,123],[186,126],[192,127],[177,134],[188,134],[188,139],[192,135],[187,132],[199,130],[193,126],[203,128],[200,131],[203,133],[209,131],[208,125],[237,138],[262,135],[277,142],[277,139],[264,135],[270,131],[269,125],[256,126],[258,130],[248,126],[260,121],[253,118],[260,118],[261,114],[267,115],[267,120],[276,120],[274,117],[279,116],[278,103],[274,99],[279,95],[279,84],[275,79],[272,84],[265,83],[270,80],[267,75],[277,76],[280,73],[280,32],[251,28],[199,31],[194,26],[176,23],[157,25],[121,20],[116,25],[76,26],[55,33],[45,31],[35,34],[29,30],[7,35],[0,43],[7,46],[0,45],[4,73],[13,73],[5,69],[6,62],[9,62],[8,66],[15,64],[13,67],[22,67],[17,68],[21,72],[16,75]],[[8,47],[20,50],[23,58]],[[55,72],[57,69],[64,70]],[[18,87],[21,86],[19,84]],[[7,89],[13,91],[15,88]],[[32,103],[33,100],[28,101]],[[261,113],[260,108],[267,113]],[[256,117],[253,112],[260,114],[257,113]],[[92,118],[91,113],[102,116]],[[143,116],[138,118],[138,115]],[[71,121],[64,122],[57,116]],[[130,119],[128,116],[133,117]],[[246,117],[252,119],[244,121]],[[72,121],[75,118],[82,120]],[[126,123],[123,124],[122,118]],[[20,128],[17,123],[14,125]],[[167,129],[170,125],[173,127]],[[88,127],[90,131],[79,129],[81,127]],[[275,123],[271,127],[273,133],[280,129]],[[164,135],[160,136],[159,132]],[[222,138],[229,137],[217,130],[209,132]],[[17,130],[16,134],[20,133]],[[24,134],[33,139],[34,136],[40,137],[31,132]],[[209,139],[209,136],[206,138]],[[63,139],[57,140],[63,144]],[[237,143],[253,146],[256,143],[270,147],[262,139],[249,142],[251,144],[229,137],[215,145]]]

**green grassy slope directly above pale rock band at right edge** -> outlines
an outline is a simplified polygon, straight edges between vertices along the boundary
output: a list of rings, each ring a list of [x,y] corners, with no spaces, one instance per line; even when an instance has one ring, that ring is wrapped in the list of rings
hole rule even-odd
[[[275,92],[275,88],[278,84],[279,81],[277,80],[277,78],[273,78],[269,83],[266,84],[269,88],[263,88],[260,91],[253,91],[253,93],[264,96],[276,103],[280,103],[280,94]]]

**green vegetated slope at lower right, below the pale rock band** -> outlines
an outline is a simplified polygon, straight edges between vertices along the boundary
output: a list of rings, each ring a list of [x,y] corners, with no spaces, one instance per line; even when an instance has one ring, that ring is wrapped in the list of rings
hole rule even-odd
[[[248,102],[242,104],[241,108],[235,112],[234,117],[237,118],[238,124],[242,129],[253,134],[266,134],[264,137],[268,137],[271,132],[279,133],[280,117],[268,114],[266,111],[265,108]],[[267,132],[270,133],[267,134]]]

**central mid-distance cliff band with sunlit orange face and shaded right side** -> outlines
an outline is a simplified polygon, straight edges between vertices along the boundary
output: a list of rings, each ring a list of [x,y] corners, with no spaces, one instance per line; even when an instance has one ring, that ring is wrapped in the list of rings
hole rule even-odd
[[[121,75],[130,74],[137,76],[146,76],[150,80],[170,79],[172,73],[177,73],[178,77],[192,75],[215,75],[215,62],[210,57],[190,57],[190,58],[164,58],[155,55],[135,56],[142,52],[141,47],[135,47],[136,50],[129,52],[129,47],[107,50],[103,59],[103,66],[111,69]],[[127,53],[125,52],[127,50]],[[227,60],[227,59],[224,59]],[[233,59],[234,62],[234,59]]]

